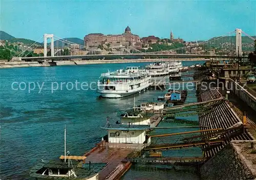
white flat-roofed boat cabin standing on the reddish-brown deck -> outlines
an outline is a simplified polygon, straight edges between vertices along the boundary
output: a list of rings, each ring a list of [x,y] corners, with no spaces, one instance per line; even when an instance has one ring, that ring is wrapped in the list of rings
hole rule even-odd
[[[108,130],[109,143],[144,144],[146,141],[147,125],[109,125],[101,127]]]

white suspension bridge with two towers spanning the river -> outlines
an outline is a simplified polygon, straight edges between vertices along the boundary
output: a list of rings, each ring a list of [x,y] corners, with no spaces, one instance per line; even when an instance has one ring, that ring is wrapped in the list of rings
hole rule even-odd
[[[236,34],[236,39],[234,40],[231,38],[232,35]],[[105,57],[114,58],[114,57],[121,57],[121,58],[129,58],[129,57],[139,57],[139,58],[145,58],[145,57],[167,57],[167,58],[212,58],[212,57],[224,57],[228,56],[230,58],[236,58],[238,55],[242,56],[242,34],[244,36],[249,37],[251,40],[254,41],[254,46],[256,48],[256,40],[254,37],[248,35],[247,33],[243,32],[241,29],[236,29],[234,31],[228,32],[226,34],[223,34],[221,36],[217,36],[214,38],[211,38],[206,41],[197,42],[194,44],[188,44],[188,46],[165,50],[165,51],[155,51],[155,52],[136,52],[136,53],[118,53],[118,54],[101,54],[99,49],[86,47],[81,44],[77,44],[68,40],[65,40],[63,38],[57,37],[53,34],[44,34],[44,36],[40,37],[40,39],[44,38],[44,57],[27,57],[28,54],[30,54],[34,49],[32,49],[31,52],[24,54],[24,52],[20,53],[18,57],[13,57],[13,59],[18,60],[25,60],[25,61],[42,61],[42,60],[68,60],[68,59],[76,59],[76,58],[95,58],[95,59],[104,59]],[[227,38],[229,38],[227,42]],[[40,39],[38,39],[36,42],[38,42]],[[47,40],[50,39],[50,47],[51,47],[51,56],[47,56]],[[67,56],[56,56],[58,51],[61,51],[61,49],[55,50],[54,49],[54,40],[58,40],[60,42],[63,42],[65,44],[74,44],[75,46],[79,47],[79,49],[90,51],[90,55],[67,55]],[[30,48],[35,45],[34,42],[31,44]],[[225,47],[223,47],[223,44],[225,44]],[[197,53],[191,53],[191,50],[197,50],[200,49],[204,52],[210,51],[212,47],[215,46],[215,48],[219,49],[222,53],[211,55],[211,54],[197,54]],[[196,51],[197,52],[197,51]]]

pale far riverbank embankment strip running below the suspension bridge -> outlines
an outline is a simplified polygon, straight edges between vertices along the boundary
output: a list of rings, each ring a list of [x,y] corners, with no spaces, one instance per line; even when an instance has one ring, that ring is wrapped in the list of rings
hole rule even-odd
[[[112,59],[112,60],[67,60],[67,61],[44,61],[44,62],[0,62],[0,69],[5,68],[26,68],[40,66],[59,66],[59,65],[86,65],[86,64],[114,64],[114,63],[140,63],[140,62],[161,62],[161,61],[207,61],[208,59]]]

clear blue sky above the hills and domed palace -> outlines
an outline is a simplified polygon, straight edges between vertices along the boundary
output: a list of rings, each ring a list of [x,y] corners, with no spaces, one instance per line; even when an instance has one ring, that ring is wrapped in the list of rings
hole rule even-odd
[[[39,39],[44,33],[79,37],[121,34],[206,40],[236,28],[256,34],[256,1],[11,1],[1,0],[1,30]],[[42,41],[42,40],[41,40]]]

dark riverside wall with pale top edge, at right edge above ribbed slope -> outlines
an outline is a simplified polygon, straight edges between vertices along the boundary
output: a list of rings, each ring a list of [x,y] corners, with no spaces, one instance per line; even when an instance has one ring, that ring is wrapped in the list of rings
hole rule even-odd
[[[228,79],[228,88],[256,111],[256,92],[253,89],[250,89],[247,85],[240,85],[230,78]]]

